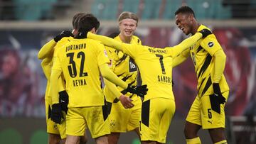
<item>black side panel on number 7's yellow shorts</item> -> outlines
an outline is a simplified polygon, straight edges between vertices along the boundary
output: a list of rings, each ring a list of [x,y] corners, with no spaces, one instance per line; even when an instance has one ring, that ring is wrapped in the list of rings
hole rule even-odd
[[[149,127],[150,99],[142,103],[142,123]]]

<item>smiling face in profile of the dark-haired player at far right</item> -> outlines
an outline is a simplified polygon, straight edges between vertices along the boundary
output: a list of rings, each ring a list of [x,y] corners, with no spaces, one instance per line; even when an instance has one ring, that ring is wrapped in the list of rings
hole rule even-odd
[[[183,33],[193,33],[193,15],[191,13],[178,13],[175,16],[176,25]]]

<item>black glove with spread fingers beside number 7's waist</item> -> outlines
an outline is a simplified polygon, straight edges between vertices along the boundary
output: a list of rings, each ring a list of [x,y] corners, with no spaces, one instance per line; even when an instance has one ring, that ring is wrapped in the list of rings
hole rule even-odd
[[[128,84],[128,87],[127,89],[125,89],[125,91],[130,92],[132,94],[137,94],[137,96],[144,98],[144,95],[146,95],[146,92],[148,91],[148,89],[146,88],[146,84],[139,87],[135,87],[135,86],[131,87],[131,84]]]

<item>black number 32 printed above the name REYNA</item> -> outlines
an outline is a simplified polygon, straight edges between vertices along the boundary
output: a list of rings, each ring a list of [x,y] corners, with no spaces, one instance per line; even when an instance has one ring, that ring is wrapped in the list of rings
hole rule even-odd
[[[74,52],[67,53],[67,57],[70,57],[70,62],[68,65],[68,72],[70,74],[70,77],[76,77],[77,76],[77,70],[75,67],[75,61],[74,61]],[[79,77],[85,77],[87,76],[87,72],[84,72],[84,65],[85,65],[85,53],[84,52],[78,52],[77,58],[81,59],[80,62],[80,74]]]

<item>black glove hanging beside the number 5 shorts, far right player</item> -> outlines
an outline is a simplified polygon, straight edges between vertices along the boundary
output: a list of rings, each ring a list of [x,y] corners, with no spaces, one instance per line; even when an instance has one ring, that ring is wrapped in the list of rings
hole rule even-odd
[[[220,113],[220,104],[225,104],[226,99],[220,92],[220,86],[218,83],[213,83],[214,94],[210,95],[210,106],[213,111]]]

